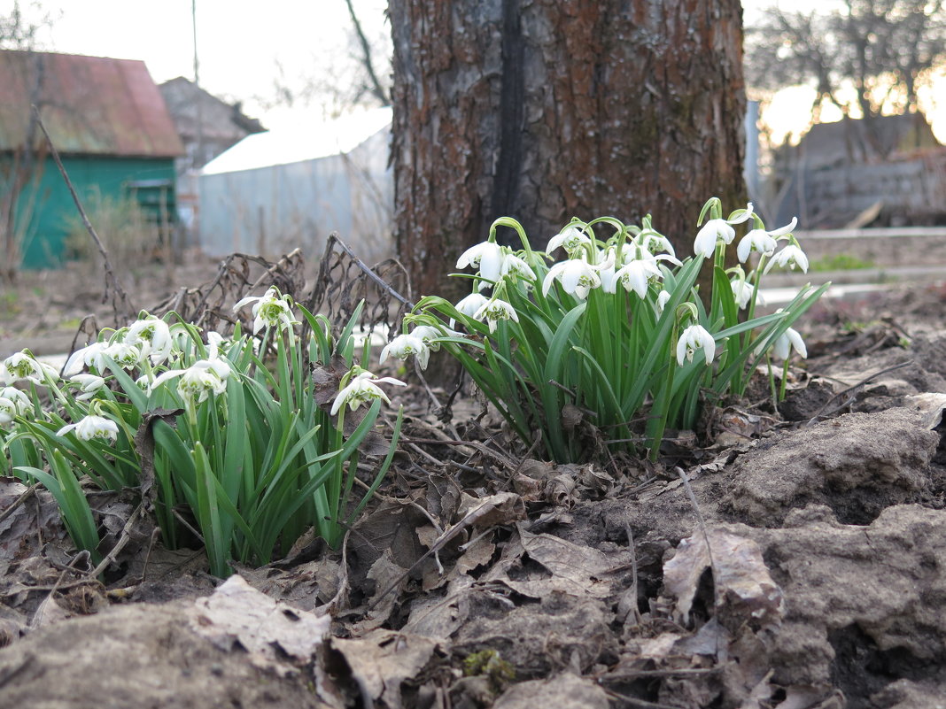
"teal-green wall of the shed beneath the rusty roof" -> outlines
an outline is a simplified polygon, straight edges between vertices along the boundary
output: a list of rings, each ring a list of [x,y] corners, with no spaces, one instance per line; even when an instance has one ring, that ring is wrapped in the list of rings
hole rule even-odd
[[[0,156],[0,207],[9,189],[9,155]],[[131,182],[174,183],[174,161],[171,158],[114,158],[107,156],[65,156],[62,158],[69,179],[79,193],[83,206],[89,195],[98,191],[103,197],[118,199],[132,194],[152,209],[156,190],[145,187],[131,190]],[[168,196],[173,213],[173,188]],[[24,268],[57,268],[65,253],[63,242],[70,219],[78,216],[76,205],[62,180],[59,169],[47,157],[26,187],[16,205],[17,233],[21,234]],[[4,217],[5,218],[5,217]],[[93,224],[95,226],[95,224]]]

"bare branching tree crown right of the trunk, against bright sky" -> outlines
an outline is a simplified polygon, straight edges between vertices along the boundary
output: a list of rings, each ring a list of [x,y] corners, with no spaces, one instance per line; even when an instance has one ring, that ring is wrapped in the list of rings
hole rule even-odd
[[[870,119],[917,111],[922,82],[946,59],[946,11],[943,0],[845,0],[830,12],[774,7],[745,36],[750,87],[806,84],[815,88],[815,112],[827,100],[845,116]]]

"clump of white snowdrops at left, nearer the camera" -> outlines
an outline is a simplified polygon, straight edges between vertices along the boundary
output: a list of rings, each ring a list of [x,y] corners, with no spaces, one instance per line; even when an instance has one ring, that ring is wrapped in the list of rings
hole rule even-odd
[[[354,364],[359,312],[333,339],[324,318],[275,288],[235,310],[251,305],[253,333],[237,325],[232,337],[143,313],[72,355],[62,379],[28,353],[0,364],[0,451],[15,475],[56,497],[73,541],[94,558],[100,540],[85,486],[153,486],[164,543],[174,548],[198,532],[221,577],[232,560],[286,553],[308,527],[339,545],[377,490],[400,413],[368,483],[356,479],[359,445],[390,404],[379,385],[403,383]],[[305,340],[296,311],[307,320]],[[309,363],[340,358],[347,372],[322,391]]]

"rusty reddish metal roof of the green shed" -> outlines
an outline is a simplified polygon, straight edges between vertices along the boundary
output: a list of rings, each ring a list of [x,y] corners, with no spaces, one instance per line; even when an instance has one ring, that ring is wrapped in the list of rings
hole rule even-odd
[[[144,61],[0,51],[0,150],[26,143],[31,103],[61,153],[184,153]]]

